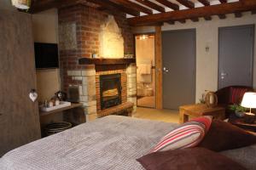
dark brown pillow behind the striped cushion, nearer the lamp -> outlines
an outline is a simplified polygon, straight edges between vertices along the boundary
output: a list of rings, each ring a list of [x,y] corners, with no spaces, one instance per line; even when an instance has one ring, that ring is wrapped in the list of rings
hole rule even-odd
[[[252,144],[256,144],[256,135],[253,133],[248,133],[229,122],[212,120],[212,125],[207,135],[198,146],[209,150],[222,151]]]

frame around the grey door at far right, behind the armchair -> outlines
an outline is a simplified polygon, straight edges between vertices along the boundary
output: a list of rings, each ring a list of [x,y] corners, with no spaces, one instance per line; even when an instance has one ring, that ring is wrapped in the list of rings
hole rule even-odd
[[[220,51],[219,51],[219,47],[220,47],[220,31],[221,30],[227,30],[227,29],[231,29],[231,28],[243,28],[243,27],[251,27],[253,28],[253,48],[252,48],[252,56],[251,56],[251,68],[250,70],[252,70],[252,75],[251,75],[251,78],[252,78],[252,84],[251,84],[251,87],[253,87],[253,70],[254,70],[254,66],[253,66],[253,62],[254,62],[254,42],[255,42],[255,24],[250,24],[250,25],[239,25],[239,26],[222,26],[222,27],[218,27],[218,89],[220,88],[220,85],[219,85],[219,80],[220,80]]]

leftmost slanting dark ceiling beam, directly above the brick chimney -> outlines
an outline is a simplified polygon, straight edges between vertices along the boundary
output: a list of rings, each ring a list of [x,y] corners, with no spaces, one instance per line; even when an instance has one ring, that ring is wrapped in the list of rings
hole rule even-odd
[[[137,10],[134,10],[132,8],[126,8],[125,6],[121,6],[116,3],[112,3],[109,0],[87,0],[90,3],[96,3],[100,5],[102,8],[107,8],[108,10],[113,10],[113,8],[118,9],[120,12],[126,13],[126,14],[131,14],[133,16],[140,16],[140,12]]]

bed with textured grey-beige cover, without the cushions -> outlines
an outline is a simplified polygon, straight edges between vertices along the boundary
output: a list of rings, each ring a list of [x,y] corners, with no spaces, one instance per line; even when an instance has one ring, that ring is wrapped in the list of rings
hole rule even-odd
[[[105,116],[9,151],[1,170],[138,169],[161,137],[177,127],[127,116]],[[221,152],[248,169],[256,167],[256,145]]]

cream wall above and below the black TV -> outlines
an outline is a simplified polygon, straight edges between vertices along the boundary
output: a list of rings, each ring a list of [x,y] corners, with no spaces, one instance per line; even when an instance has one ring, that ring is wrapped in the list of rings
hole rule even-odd
[[[58,43],[57,9],[32,14],[32,31],[35,42]],[[53,97],[61,88],[60,82],[59,69],[37,70],[38,101]]]

